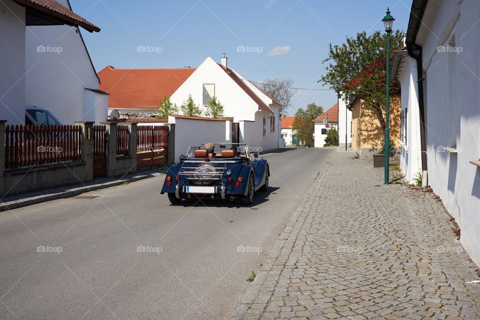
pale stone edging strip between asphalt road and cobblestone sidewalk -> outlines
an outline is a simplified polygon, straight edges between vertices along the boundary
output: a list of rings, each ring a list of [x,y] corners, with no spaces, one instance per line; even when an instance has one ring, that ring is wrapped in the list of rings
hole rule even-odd
[[[250,283],[248,288],[246,289],[245,293],[240,298],[237,306],[233,310],[232,314],[230,315],[229,320],[241,320],[244,318],[246,311],[248,310],[248,306],[254,303],[256,299],[264,300],[265,298],[269,298],[269,296],[264,296],[261,294],[261,287],[263,282],[265,281],[269,270],[273,266],[276,258],[280,254],[281,249],[283,248],[286,241],[291,241],[292,236],[296,238],[298,232],[300,231],[299,228],[295,227],[297,224],[298,219],[301,216],[301,213],[304,211],[305,205],[308,202],[309,197],[312,195],[313,192],[317,189],[317,186],[322,183],[328,168],[332,162],[333,156],[336,152],[332,152],[329,160],[326,162],[325,169],[316,177],[313,181],[311,187],[306,191],[305,195],[301,197],[300,204],[296,208],[295,212],[293,213],[292,217],[288,221],[288,224],[285,226],[285,229],[278,237],[275,245],[268,253],[267,258],[263,262],[261,269],[257,272],[255,279]],[[304,222],[305,218],[303,218]],[[303,223],[302,222],[302,223]]]

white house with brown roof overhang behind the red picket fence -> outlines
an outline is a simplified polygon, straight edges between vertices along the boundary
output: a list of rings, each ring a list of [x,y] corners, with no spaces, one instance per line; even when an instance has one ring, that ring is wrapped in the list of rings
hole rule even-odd
[[[98,90],[78,26],[100,29],[72,12],[68,0],[6,0],[0,11],[0,119],[23,124],[31,104],[65,124],[106,120],[108,96]]]

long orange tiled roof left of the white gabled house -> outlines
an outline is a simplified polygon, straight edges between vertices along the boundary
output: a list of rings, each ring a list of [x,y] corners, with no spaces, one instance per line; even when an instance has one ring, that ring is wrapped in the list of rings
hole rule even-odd
[[[115,69],[107,65],[98,72],[99,88],[110,93],[109,108],[156,109],[163,97],[171,96],[195,70]]]

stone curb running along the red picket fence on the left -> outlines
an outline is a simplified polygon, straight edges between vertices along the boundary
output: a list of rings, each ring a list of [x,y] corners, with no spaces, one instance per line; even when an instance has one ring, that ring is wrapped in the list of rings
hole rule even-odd
[[[25,207],[25,206],[29,206],[37,203],[47,202],[51,200],[56,200],[56,199],[69,198],[85,192],[109,188],[109,187],[117,186],[124,183],[129,183],[129,182],[139,181],[139,180],[143,180],[143,179],[154,177],[154,176],[159,176],[163,173],[164,172],[148,172],[144,174],[130,175],[128,177],[122,177],[117,180],[107,181],[103,183],[84,185],[80,187],[72,186],[70,189],[66,189],[65,191],[50,192],[50,193],[35,195],[27,198],[21,198],[17,200],[5,201],[0,203],[0,211],[17,209],[17,208],[21,208],[21,207]],[[48,190],[46,190],[46,192],[48,192]]]

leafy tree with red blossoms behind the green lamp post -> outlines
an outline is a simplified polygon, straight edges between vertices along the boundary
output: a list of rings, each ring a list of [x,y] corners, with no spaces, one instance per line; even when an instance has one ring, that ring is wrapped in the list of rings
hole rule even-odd
[[[390,52],[403,46],[403,31],[396,30],[390,36]],[[329,85],[346,101],[360,98],[364,106],[376,110],[382,128],[385,128],[386,101],[386,33],[376,31],[367,35],[365,31],[356,37],[346,37],[341,45],[329,45],[326,73],[318,82]],[[390,64],[391,64],[390,58]],[[390,65],[388,66],[390,67]],[[400,92],[397,80],[390,81],[390,91]]]

